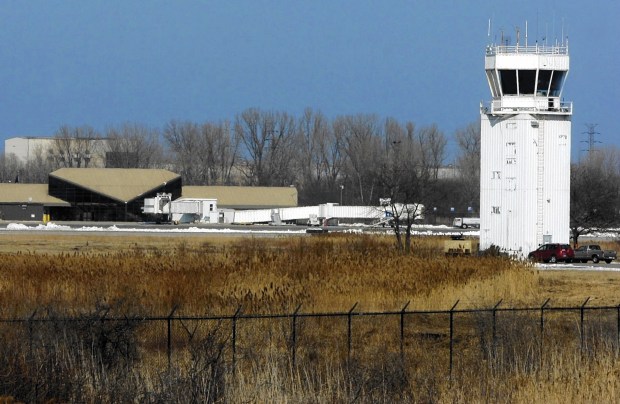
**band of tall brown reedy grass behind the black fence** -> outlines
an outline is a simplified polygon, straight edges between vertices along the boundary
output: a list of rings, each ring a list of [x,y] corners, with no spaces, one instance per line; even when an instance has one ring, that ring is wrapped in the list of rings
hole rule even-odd
[[[107,243],[106,243],[107,241]],[[111,242],[111,243],[110,243]],[[391,238],[43,240],[1,256],[0,298],[18,312],[132,299],[145,310],[281,312],[419,309],[533,300],[537,274],[501,258],[446,258],[438,240],[409,256]],[[119,248],[120,247],[120,248]],[[38,253],[39,250],[48,251]],[[114,252],[112,252],[114,251]]]

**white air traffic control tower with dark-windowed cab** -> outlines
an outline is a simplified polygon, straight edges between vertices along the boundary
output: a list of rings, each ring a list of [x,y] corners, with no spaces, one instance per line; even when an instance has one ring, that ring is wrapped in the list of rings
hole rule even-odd
[[[480,248],[527,256],[569,242],[572,103],[568,43],[489,45],[480,106]]]

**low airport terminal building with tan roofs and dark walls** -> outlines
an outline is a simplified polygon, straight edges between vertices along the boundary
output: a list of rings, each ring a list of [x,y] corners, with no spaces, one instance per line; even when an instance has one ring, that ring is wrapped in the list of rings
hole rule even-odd
[[[294,187],[189,186],[162,169],[61,168],[48,184],[0,184],[0,220],[143,221],[145,198],[213,198],[230,209],[297,206]]]

